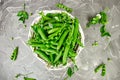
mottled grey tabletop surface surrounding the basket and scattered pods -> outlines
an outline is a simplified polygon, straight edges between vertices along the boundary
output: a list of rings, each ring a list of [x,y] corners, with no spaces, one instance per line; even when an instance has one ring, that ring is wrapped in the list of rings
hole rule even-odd
[[[39,10],[56,10],[55,4],[58,2],[73,8],[72,15],[79,18],[85,34],[86,46],[77,58],[79,70],[68,80],[120,80],[120,0],[26,0],[25,2],[27,11],[33,13],[26,22],[26,28],[16,16],[22,9],[24,0],[0,0],[0,80],[13,80],[16,74],[29,72],[33,72],[29,77],[37,80],[65,78],[66,69],[46,69],[25,44],[30,24],[36,17],[36,13]],[[90,16],[105,8],[108,8],[107,30],[112,35],[110,39],[100,36],[101,25],[88,29],[85,27]],[[12,41],[11,37],[15,39]],[[95,40],[99,45],[92,47],[91,44]],[[16,46],[19,46],[19,55],[16,61],[11,61],[10,55]],[[107,61],[108,57],[112,59],[110,62]],[[94,68],[101,62],[106,64],[105,77],[101,77],[100,72],[94,73]]]

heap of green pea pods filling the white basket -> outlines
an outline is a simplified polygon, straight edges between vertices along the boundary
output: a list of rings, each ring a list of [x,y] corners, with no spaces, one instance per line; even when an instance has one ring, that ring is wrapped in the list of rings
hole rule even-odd
[[[66,65],[68,60],[75,63],[76,50],[83,47],[79,20],[65,12],[39,14],[41,18],[31,26],[33,34],[28,45],[49,65]]]

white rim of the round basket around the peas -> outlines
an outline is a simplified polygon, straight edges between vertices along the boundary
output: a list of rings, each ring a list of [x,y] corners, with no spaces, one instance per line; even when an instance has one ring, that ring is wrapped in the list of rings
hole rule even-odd
[[[41,12],[41,11],[40,11],[40,12]],[[44,11],[42,11],[42,12],[43,12],[45,15],[46,15],[47,13],[61,13],[61,12],[65,12],[65,13],[67,13],[71,18],[74,18],[74,16],[72,16],[72,15],[69,14],[68,12],[66,12],[66,11],[61,11],[61,10],[44,10]],[[40,15],[39,15],[38,17],[36,17],[36,18],[33,20],[31,26],[34,25],[34,23],[37,23],[37,22],[40,20],[40,18],[41,18]],[[83,45],[84,45],[84,39],[85,39],[85,37],[84,37],[83,30],[82,30],[80,24],[79,24],[79,32],[81,33],[81,37],[82,37],[81,42],[82,42]],[[30,29],[29,29],[29,34],[28,34],[28,39],[30,39],[30,38],[32,37],[32,34],[33,34],[33,31],[31,30],[31,27],[30,27]],[[32,47],[31,47],[31,49],[32,49],[32,51],[33,51],[33,48],[32,48]],[[78,47],[78,49],[77,49],[77,51],[76,51],[76,52],[77,52],[77,55],[80,54],[80,52],[82,51],[82,49],[83,49],[82,47],[80,47],[80,46]],[[67,62],[67,64],[66,64],[65,66],[63,66],[62,64],[59,65],[58,67],[47,66],[47,63],[46,63],[43,59],[39,58],[37,54],[33,54],[33,55],[35,55],[41,62],[43,62],[43,63],[46,65],[46,68],[49,69],[49,70],[61,70],[61,69],[64,69],[64,68],[66,68],[66,67],[68,67],[68,66],[70,66],[70,65],[72,64],[72,61],[69,61],[69,62]],[[76,57],[77,57],[77,56],[76,56]]]

